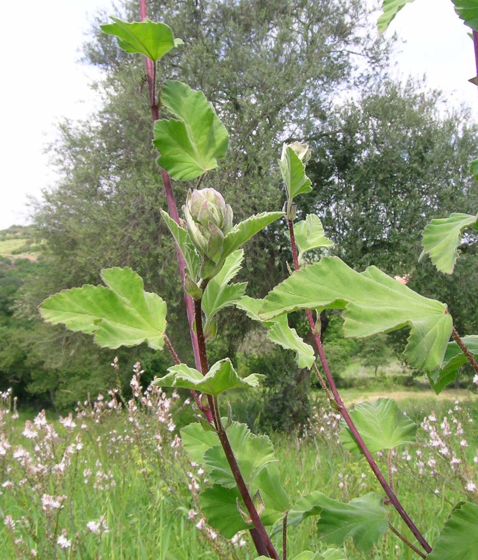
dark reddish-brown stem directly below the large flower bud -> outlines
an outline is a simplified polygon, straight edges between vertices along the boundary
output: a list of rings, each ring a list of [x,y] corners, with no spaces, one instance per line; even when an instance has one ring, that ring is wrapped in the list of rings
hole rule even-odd
[[[205,287],[204,284],[205,284],[205,282],[203,282],[201,284],[201,289],[202,290]],[[198,344],[199,344],[199,357],[201,358],[202,374],[206,375],[207,372],[209,371],[209,365],[208,365],[208,362],[207,362],[206,340],[205,340],[204,331],[203,331],[203,328],[202,328],[201,300],[194,301],[194,311],[195,311],[195,317],[196,317],[196,333],[197,333],[197,339],[198,339]],[[254,504],[252,502],[252,498],[250,497],[250,494],[249,494],[249,490],[248,490],[248,488],[247,488],[247,486],[244,482],[244,479],[242,477],[242,474],[239,470],[239,465],[238,465],[238,463],[236,461],[236,458],[234,456],[234,451],[233,451],[233,449],[231,447],[231,444],[229,442],[228,435],[226,434],[226,430],[224,429],[224,426],[222,425],[221,413],[220,413],[220,410],[219,410],[219,403],[217,402],[217,396],[213,397],[211,395],[208,395],[208,402],[209,402],[210,409],[212,410],[212,416],[214,418],[214,425],[216,427],[217,436],[219,436],[219,441],[221,442],[222,450],[224,451],[226,459],[228,460],[229,467],[231,469],[231,472],[233,473],[234,480],[237,484],[240,495],[242,496],[242,499],[244,501],[244,505],[247,508],[247,511],[249,512],[250,519],[252,519],[254,527],[257,530],[257,536],[260,538],[264,547],[266,548],[267,556],[269,556],[270,558],[275,558],[276,560],[279,560],[279,556],[277,556],[277,552],[276,552],[276,550],[275,550],[275,548],[274,548],[274,546],[271,542],[271,539],[269,538],[269,535],[267,534],[267,531],[264,528],[264,525],[262,524],[261,517],[259,517],[259,514],[257,513],[257,510],[254,507]],[[256,541],[254,540],[254,536],[252,538],[253,538],[254,544],[256,544]],[[258,554],[263,554],[263,552],[261,552],[261,550],[259,550],[259,548],[257,548],[257,545],[256,545],[256,549],[257,549]],[[266,555],[264,554],[264,556],[266,556]]]

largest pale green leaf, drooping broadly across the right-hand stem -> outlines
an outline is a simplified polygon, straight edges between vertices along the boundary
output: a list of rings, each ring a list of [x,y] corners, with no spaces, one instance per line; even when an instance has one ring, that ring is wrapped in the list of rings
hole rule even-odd
[[[276,286],[259,312],[271,320],[297,309],[345,309],[347,337],[366,337],[410,326],[405,356],[412,367],[433,370],[442,363],[452,333],[447,307],[420,296],[376,267],[355,272],[337,257],[324,257]]]

